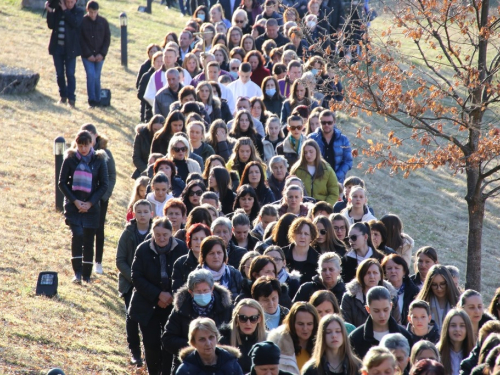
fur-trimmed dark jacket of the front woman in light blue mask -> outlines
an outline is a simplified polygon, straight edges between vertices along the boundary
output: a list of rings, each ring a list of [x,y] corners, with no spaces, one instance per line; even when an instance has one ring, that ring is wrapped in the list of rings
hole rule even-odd
[[[227,288],[214,284],[214,305],[207,318],[212,319],[220,328],[222,324],[231,321],[233,306],[231,293]],[[182,348],[188,346],[189,323],[198,318],[198,313],[193,308],[193,297],[187,285],[183,286],[174,296],[173,310],[165,325],[162,335],[163,348],[177,355]]]

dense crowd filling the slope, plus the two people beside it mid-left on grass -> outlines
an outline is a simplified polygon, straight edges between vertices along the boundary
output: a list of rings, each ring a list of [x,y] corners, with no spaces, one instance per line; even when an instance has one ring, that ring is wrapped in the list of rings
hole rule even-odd
[[[131,363],[143,347],[163,375],[500,374],[500,288],[486,308],[439,249],[377,219],[349,172],[330,110],[342,85],[317,47],[366,5],[180,1],[191,17],[147,47],[136,82],[116,254]],[[115,181],[106,138],[83,125],[59,182],[76,284],[104,272]]]

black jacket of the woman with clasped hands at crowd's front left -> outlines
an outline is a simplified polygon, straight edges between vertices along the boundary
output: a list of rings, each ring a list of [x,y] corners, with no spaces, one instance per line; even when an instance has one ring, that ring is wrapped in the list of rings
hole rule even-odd
[[[172,270],[174,261],[184,254],[188,249],[186,244],[172,238],[170,251],[167,253],[167,273],[169,284],[162,285],[160,256],[156,252],[151,238],[144,241],[136,250],[134,261],[132,262],[132,283],[134,284],[134,294],[129,306],[129,315],[136,322],[147,325],[158,306],[158,297],[161,292],[172,293]],[[160,312],[168,309],[161,309]]]

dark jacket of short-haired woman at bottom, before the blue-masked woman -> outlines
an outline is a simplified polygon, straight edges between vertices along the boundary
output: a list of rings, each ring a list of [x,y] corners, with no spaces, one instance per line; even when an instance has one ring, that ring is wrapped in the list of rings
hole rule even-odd
[[[217,345],[215,354],[217,363],[207,366],[195,348],[192,346],[184,348],[179,354],[182,365],[177,369],[176,375],[243,375],[238,363],[241,353],[237,348]]]

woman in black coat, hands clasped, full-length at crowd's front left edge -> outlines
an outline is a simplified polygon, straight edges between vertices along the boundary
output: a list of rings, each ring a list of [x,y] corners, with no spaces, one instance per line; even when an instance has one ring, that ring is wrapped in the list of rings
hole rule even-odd
[[[172,358],[162,355],[161,334],[172,311],[172,272],[174,262],[187,254],[184,242],[172,237],[172,224],[166,217],[153,222],[152,237],[136,250],[132,263],[134,294],[129,315],[139,323],[150,374],[158,374]],[[163,357],[163,358],[162,358]]]

